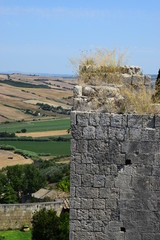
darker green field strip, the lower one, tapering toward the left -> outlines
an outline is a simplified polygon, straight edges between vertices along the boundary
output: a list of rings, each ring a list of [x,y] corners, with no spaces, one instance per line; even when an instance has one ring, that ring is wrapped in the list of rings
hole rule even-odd
[[[0,145],[11,145],[17,149],[28,150],[35,153],[50,153],[52,156],[62,156],[70,154],[70,142],[55,141],[4,141],[0,140]]]

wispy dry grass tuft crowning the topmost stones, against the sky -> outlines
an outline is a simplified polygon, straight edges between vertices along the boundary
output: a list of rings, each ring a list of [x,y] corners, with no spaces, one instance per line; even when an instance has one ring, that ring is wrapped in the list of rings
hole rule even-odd
[[[96,49],[92,52],[82,52],[71,63],[79,76],[79,84],[100,85],[103,83],[120,83],[122,66],[125,64],[126,53],[116,49]]]

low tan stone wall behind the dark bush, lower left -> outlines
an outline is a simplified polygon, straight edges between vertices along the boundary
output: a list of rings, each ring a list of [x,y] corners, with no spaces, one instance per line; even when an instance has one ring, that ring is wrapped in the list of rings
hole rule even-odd
[[[24,224],[31,227],[32,216],[43,208],[54,209],[59,214],[63,208],[63,201],[28,203],[28,204],[0,204],[0,230],[21,229]]]

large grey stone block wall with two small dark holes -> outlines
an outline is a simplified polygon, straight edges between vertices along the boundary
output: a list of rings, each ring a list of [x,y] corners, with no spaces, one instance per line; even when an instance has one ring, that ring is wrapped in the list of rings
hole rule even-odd
[[[71,113],[70,240],[160,239],[160,116]]]

